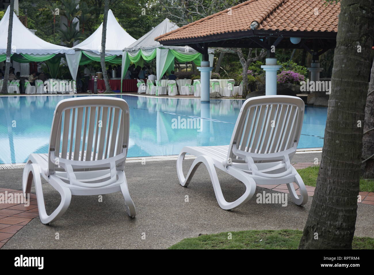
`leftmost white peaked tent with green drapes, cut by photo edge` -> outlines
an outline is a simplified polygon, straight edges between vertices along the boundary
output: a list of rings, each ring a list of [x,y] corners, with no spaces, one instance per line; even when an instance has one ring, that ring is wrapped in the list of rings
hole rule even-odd
[[[0,61],[6,59],[10,7],[0,21]],[[73,55],[74,50],[48,43],[28,30],[13,13],[12,47],[10,59],[19,63],[46,61],[52,77],[55,77],[61,57]]]

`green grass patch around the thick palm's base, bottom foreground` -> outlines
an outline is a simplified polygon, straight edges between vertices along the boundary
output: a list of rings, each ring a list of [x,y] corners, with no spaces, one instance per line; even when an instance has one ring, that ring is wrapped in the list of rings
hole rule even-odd
[[[303,232],[300,230],[248,230],[201,235],[187,238],[169,249],[297,249]],[[374,239],[354,237],[353,249],[373,249]]]

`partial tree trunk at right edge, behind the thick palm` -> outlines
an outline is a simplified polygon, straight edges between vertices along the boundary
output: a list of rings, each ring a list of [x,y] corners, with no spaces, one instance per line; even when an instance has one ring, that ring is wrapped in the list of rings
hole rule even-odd
[[[374,61],[366,98],[364,138],[362,138],[362,177],[374,178]]]

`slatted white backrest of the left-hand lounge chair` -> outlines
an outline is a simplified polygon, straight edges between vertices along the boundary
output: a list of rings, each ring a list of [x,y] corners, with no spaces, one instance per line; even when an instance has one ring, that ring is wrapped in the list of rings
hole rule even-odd
[[[122,153],[126,158],[128,143],[129,106],[125,100],[114,97],[62,100],[53,115],[49,174],[58,165],[57,161],[52,162],[51,152],[55,158],[98,162]]]

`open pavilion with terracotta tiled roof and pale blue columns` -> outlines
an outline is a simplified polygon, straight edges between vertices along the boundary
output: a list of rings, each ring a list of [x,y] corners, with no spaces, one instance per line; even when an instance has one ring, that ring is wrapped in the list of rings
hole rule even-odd
[[[208,47],[267,50],[266,95],[276,94],[275,49],[303,49],[313,56],[311,80],[319,80],[319,56],[334,48],[340,3],[325,0],[249,0],[156,37],[167,46],[188,45],[203,54],[201,100],[209,101]]]

